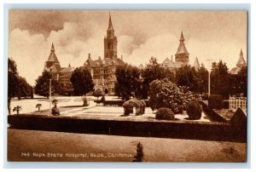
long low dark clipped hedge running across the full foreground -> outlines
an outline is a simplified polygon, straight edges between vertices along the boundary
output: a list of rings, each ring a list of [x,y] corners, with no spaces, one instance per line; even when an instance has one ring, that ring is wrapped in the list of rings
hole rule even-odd
[[[246,127],[235,127],[230,123],[113,121],[35,115],[11,115],[8,116],[8,123],[14,129],[192,140],[238,142],[246,142],[247,140]]]

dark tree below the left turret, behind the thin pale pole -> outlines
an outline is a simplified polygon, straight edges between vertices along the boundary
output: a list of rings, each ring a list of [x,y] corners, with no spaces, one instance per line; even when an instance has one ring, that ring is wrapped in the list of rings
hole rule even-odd
[[[36,79],[35,94],[49,98],[49,79],[51,79],[51,95],[55,94],[55,90],[59,89],[57,81],[52,79],[50,72],[44,70],[41,76]]]

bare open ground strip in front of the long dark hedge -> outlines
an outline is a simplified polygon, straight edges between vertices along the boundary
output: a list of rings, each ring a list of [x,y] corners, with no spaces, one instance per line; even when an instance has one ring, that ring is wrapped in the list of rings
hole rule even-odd
[[[181,140],[116,135],[88,135],[8,129],[9,161],[131,162],[137,143],[143,144],[145,162],[245,162],[246,143]],[[21,157],[21,152],[62,153],[64,157]],[[65,157],[86,154],[87,157]],[[93,155],[103,155],[95,157]],[[122,154],[130,157],[122,157]],[[109,156],[110,155],[110,156]]]

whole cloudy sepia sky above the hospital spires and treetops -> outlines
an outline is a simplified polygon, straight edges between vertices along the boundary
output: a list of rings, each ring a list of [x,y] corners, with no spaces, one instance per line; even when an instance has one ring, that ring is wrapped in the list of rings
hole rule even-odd
[[[90,53],[103,56],[109,11],[10,10],[9,57],[34,85],[43,72],[51,43],[61,66],[82,66]],[[247,57],[246,11],[110,11],[118,38],[118,56],[138,66],[151,56],[162,62],[176,54],[183,31],[189,63],[195,57],[236,66],[240,49]]]

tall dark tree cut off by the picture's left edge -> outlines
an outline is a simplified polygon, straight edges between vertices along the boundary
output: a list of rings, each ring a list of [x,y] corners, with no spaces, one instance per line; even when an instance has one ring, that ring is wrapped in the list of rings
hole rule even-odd
[[[8,59],[8,112],[10,115],[10,103],[11,100],[17,96],[17,90],[19,87],[19,73],[15,60]]]

